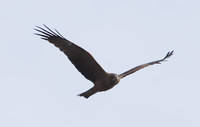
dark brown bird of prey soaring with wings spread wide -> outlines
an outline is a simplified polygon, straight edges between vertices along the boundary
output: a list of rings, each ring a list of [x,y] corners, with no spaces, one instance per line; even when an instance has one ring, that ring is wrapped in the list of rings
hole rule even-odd
[[[52,30],[44,25],[44,27],[36,26],[34,30],[37,31],[35,34],[40,36],[41,39],[49,41],[59,48],[60,51],[68,57],[75,68],[86,79],[93,82],[94,86],[92,88],[78,95],[85,98],[89,98],[97,92],[107,91],[113,88],[119,83],[120,79],[149,65],[160,64],[174,53],[174,51],[169,51],[167,55],[160,60],[141,64],[121,74],[107,73],[88,51],[65,39],[56,29]]]

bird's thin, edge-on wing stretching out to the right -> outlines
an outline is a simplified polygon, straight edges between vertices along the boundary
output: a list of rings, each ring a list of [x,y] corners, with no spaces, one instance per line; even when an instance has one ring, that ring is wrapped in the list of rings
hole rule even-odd
[[[147,67],[147,66],[149,66],[149,65],[160,64],[160,62],[165,61],[165,59],[167,59],[167,58],[169,58],[170,56],[172,56],[172,55],[173,55],[173,52],[174,52],[174,51],[168,52],[167,55],[166,55],[163,59],[161,59],[161,60],[156,60],[156,61],[153,61],[153,62],[149,62],[149,63],[146,63],[146,64],[142,64],[142,65],[139,65],[139,66],[137,66],[137,67],[135,67],[135,68],[133,68],[133,69],[131,69],[131,70],[129,70],[129,71],[126,71],[126,72],[120,74],[119,77],[120,77],[120,78],[123,78],[123,77],[125,77],[125,76],[127,76],[127,75],[130,75],[130,74],[132,74],[132,73],[134,73],[134,72],[136,72],[136,71],[138,71],[138,70],[140,70],[140,69],[142,69],[142,68],[145,68],[145,67]]]

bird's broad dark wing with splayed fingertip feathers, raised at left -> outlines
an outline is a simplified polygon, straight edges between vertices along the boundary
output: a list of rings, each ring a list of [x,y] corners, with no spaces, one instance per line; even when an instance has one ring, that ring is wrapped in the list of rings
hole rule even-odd
[[[83,48],[65,39],[56,29],[55,32],[44,25],[46,29],[36,26],[35,29],[39,33],[35,33],[42,37],[42,39],[49,41],[58,47],[69,60],[74,64],[76,69],[84,75],[85,78],[95,83],[99,78],[106,75],[103,68],[96,62],[96,60],[85,51]]]

